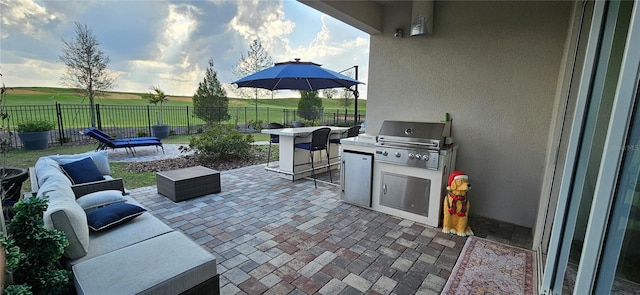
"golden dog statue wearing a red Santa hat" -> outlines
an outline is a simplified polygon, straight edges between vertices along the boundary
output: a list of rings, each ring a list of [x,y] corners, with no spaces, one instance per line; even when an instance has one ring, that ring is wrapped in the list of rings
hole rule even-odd
[[[469,177],[462,171],[453,171],[449,175],[447,194],[444,196],[444,218],[442,232],[459,236],[473,235],[469,227],[469,200],[467,191],[471,188]]]

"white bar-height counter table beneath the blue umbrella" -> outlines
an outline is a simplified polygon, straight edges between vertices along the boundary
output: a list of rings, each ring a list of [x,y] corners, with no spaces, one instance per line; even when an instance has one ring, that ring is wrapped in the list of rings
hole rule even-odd
[[[309,151],[296,149],[296,143],[311,141],[311,132],[314,130],[328,127],[331,128],[329,138],[340,138],[341,134],[348,128],[335,126],[314,126],[299,128],[283,128],[283,129],[262,129],[262,133],[278,135],[280,137],[280,160],[278,166],[269,166],[266,169],[278,172],[280,177],[297,180],[311,176],[311,162]],[[338,169],[338,153],[340,148],[338,144],[329,144],[329,159],[331,169]],[[316,174],[327,171],[327,156],[322,151],[316,152],[318,156],[314,156],[314,166]]]

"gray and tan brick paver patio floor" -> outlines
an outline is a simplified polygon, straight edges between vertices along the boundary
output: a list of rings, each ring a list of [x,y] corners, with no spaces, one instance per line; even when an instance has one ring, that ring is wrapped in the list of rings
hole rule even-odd
[[[222,192],[174,203],[130,190],[218,259],[221,294],[439,294],[465,237],[340,201],[263,165],[221,173]],[[471,217],[476,235],[530,248],[527,228]]]

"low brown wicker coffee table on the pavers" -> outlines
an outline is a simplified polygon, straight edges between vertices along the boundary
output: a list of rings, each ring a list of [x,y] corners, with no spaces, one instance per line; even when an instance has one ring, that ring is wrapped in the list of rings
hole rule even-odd
[[[156,173],[158,193],[174,202],[220,192],[220,172],[194,166]]]

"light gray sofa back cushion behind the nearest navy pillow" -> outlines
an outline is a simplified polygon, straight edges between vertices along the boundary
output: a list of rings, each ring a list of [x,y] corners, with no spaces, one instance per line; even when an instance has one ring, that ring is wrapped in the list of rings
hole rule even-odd
[[[77,259],[86,255],[89,250],[87,215],[76,202],[71,187],[62,182],[47,181],[38,190],[37,197],[49,200],[43,215],[44,226],[62,231],[69,241],[65,256]]]

